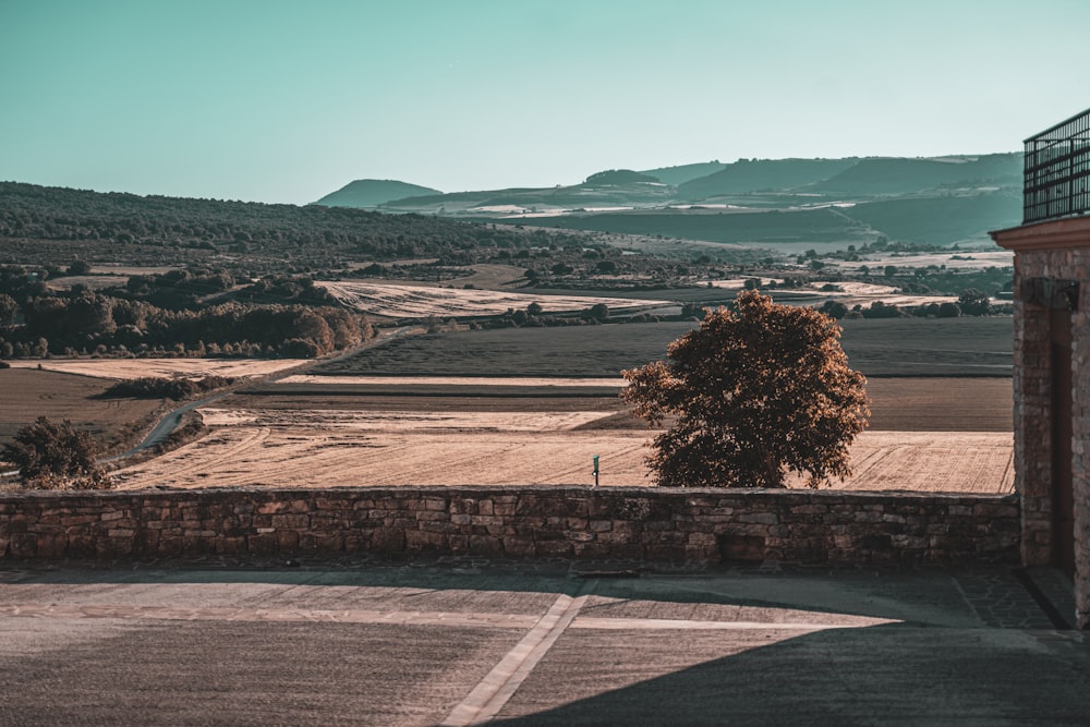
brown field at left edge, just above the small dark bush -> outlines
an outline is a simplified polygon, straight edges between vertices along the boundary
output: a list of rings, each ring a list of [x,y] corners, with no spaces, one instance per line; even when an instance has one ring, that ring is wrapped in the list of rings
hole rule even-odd
[[[0,444],[38,416],[71,420],[105,444],[162,403],[158,399],[96,399],[109,386],[106,379],[52,371],[0,369]]]

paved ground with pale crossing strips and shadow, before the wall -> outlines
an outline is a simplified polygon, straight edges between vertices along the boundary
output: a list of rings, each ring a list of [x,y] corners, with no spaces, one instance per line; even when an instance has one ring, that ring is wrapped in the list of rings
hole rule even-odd
[[[1090,722],[1054,571],[578,568],[8,566],[0,724]]]

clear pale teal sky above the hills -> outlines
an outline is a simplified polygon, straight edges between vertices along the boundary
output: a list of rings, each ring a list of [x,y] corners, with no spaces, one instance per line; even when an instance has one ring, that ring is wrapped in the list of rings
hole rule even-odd
[[[1090,0],[0,0],[0,180],[306,204],[1015,152]]]

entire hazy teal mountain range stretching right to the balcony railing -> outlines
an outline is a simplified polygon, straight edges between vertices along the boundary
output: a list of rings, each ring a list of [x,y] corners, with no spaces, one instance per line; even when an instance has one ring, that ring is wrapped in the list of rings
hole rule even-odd
[[[610,169],[570,186],[413,194],[380,209],[765,247],[949,245],[1017,225],[1021,179],[1018,153],[739,159]]]

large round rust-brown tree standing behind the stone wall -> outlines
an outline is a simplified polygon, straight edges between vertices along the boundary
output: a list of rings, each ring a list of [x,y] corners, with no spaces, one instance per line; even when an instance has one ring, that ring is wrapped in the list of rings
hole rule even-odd
[[[850,473],[848,446],[870,411],[865,378],[848,367],[840,329],[810,308],[741,291],[710,311],[667,360],[622,372],[621,397],[653,426],[647,458],[671,487],[784,487],[787,471],[819,487]]]

